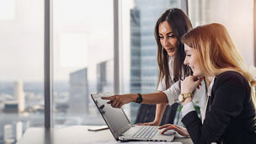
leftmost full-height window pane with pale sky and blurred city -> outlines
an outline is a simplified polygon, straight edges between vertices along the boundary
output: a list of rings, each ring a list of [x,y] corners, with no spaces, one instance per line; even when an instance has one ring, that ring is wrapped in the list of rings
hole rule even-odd
[[[44,1],[0,1],[0,143],[44,127]]]

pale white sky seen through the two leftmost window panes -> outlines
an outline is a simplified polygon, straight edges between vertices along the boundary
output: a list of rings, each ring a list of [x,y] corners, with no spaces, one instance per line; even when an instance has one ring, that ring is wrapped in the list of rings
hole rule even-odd
[[[100,4],[99,4],[100,3]],[[52,21],[55,80],[114,57],[112,0],[54,0]],[[43,81],[43,1],[0,1],[0,81]]]

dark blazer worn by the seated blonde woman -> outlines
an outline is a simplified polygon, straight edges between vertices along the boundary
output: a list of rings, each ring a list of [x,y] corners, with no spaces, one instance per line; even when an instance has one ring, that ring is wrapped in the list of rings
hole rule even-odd
[[[255,108],[248,81],[238,72],[215,78],[204,124],[195,111],[182,122],[195,144],[256,144]]]

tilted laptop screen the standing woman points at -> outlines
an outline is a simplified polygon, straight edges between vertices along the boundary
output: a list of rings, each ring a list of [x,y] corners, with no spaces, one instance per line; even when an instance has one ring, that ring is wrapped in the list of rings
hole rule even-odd
[[[109,100],[101,99],[104,96],[111,96],[113,93],[100,93],[92,94],[94,103],[99,109],[100,114],[103,116],[107,125],[109,125],[110,131],[115,136],[115,139],[120,136],[124,131],[131,127],[130,121],[127,119],[123,109],[113,108],[110,104],[107,104]]]

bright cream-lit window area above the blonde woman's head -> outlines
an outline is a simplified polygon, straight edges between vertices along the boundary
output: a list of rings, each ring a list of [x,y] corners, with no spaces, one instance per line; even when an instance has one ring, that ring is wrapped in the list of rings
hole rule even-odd
[[[200,24],[223,24],[232,37],[243,60],[254,66],[253,0],[189,0],[189,19],[194,27]]]

